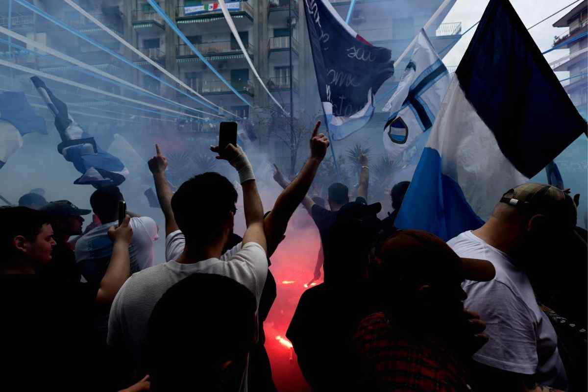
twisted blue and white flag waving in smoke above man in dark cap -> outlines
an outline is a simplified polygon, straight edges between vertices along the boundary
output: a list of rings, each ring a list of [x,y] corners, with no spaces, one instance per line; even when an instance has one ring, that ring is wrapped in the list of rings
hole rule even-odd
[[[58,152],[82,173],[74,184],[95,187],[120,185],[129,174],[121,160],[96,145],[94,138],[74,121],[67,105],[47,88],[45,82],[37,76],[33,76],[31,81],[55,116],[55,128],[62,140],[57,146]]]

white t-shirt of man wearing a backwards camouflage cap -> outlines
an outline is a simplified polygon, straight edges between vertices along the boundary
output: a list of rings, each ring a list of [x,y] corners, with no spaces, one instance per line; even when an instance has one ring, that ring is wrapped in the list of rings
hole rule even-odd
[[[489,260],[496,269],[490,282],[466,280],[465,307],[486,322],[490,341],[473,358],[487,366],[536,374],[542,386],[566,390],[567,377],[557,350],[557,334],[539,304],[529,278],[507,256],[472,232],[447,242],[461,257]]]

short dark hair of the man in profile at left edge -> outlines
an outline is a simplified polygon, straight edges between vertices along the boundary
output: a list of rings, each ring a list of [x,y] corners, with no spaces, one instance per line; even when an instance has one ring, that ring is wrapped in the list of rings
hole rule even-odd
[[[12,247],[12,240],[16,236],[23,236],[34,242],[41,233],[43,225],[51,223],[49,216],[41,211],[29,207],[0,207],[0,253],[3,259],[13,257],[16,250]]]

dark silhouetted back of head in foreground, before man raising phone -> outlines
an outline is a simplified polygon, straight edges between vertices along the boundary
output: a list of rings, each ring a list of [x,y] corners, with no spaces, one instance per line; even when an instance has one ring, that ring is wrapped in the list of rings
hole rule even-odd
[[[198,298],[206,300],[194,301]],[[253,293],[226,276],[194,273],[173,285],[149,318],[144,370],[151,375],[152,390],[220,391],[222,384],[238,384],[241,374],[223,375],[222,365],[241,360],[244,369],[255,337],[256,308]],[[189,331],[192,338],[170,344],[172,330]],[[186,355],[189,361],[180,360]]]

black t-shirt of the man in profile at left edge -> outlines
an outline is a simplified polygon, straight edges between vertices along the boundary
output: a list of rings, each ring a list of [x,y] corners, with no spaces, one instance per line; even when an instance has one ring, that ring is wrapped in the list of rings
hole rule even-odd
[[[0,275],[0,389],[97,390],[91,326],[97,292],[88,283]]]

